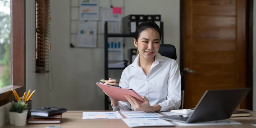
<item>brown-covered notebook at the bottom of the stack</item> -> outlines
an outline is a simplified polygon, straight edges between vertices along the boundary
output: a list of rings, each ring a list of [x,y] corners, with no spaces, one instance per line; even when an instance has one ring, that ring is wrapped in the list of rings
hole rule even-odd
[[[27,122],[29,124],[55,124],[61,123],[61,119],[35,119],[34,116],[30,116]]]

